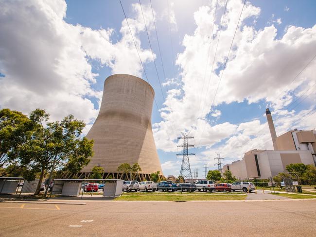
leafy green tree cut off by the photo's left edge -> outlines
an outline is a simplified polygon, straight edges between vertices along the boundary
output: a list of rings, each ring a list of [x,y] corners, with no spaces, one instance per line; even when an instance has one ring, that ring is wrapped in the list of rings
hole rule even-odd
[[[30,137],[32,129],[30,119],[21,112],[0,110],[0,176],[21,169],[20,147]]]

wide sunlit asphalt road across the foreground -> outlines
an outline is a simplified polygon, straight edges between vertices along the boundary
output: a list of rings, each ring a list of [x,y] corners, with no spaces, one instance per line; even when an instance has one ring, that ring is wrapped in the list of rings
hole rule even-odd
[[[0,203],[1,237],[315,236],[316,200]]]

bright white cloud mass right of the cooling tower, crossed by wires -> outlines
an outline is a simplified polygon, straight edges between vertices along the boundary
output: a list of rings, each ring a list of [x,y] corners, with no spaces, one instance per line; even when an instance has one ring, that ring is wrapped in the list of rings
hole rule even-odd
[[[211,6],[200,7],[194,13],[194,33],[186,34],[183,38],[184,51],[178,54],[176,60],[181,69],[182,87],[169,94],[161,109],[162,121],[154,124],[156,143],[161,150],[171,151],[172,147],[176,147],[176,140],[173,138],[181,131],[191,131],[197,141],[196,145],[207,146],[212,153],[215,152],[212,150],[213,145],[225,141],[220,148],[233,151],[227,153],[230,157],[241,157],[244,152],[253,148],[272,147],[272,143],[264,146],[261,144],[262,141],[269,140],[269,134],[263,129],[267,128],[266,123],[261,124],[259,119],[239,125],[228,122],[215,124],[215,121],[207,120],[242,9],[242,1],[228,1],[220,33],[220,14],[223,13],[223,8],[220,5],[213,26],[214,2]],[[246,19],[256,19],[260,13],[260,8],[251,3],[246,4],[212,111],[216,111],[216,106],[222,103],[246,100],[248,103],[264,101],[278,113],[302,93],[307,82],[316,80],[313,76],[315,62],[298,75],[316,51],[316,26],[307,29],[289,26],[281,37],[276,38],[278,30],[274,25],[255,29],[246,24]],[[207,60],[210,43],[211,60]],[[211,71],[213,58],[214,69]],[[309,98],[312,99],[314,97]],[[211,116],[214,115],[216,114],[211,112]],[[285,123],[285,119],[280,119],[279,122],[281,125]]]

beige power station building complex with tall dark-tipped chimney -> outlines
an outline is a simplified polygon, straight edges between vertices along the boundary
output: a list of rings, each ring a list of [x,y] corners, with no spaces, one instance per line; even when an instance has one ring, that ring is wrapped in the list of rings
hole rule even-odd
[[[271,112],[265,111],[274,150],[251,150],[243,159],[225,165],[223,171],[230,170],[239,179],[267,179],[287,172],[289,164],[303,163],[316,165],[316,131],[289,131],[277,137]]]

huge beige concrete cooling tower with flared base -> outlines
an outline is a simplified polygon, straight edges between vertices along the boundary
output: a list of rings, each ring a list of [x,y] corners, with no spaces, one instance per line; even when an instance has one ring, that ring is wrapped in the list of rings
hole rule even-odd
[[[81,177],[91,174],[94,166],[103,167],[103,178],[124,178],[117,168],[128,163],[140,165],[139,179],[150,180],[152,172],[162,174],[151,127],[155,92],[144,80],[126,74],[109,76],[99,115],[88,132],[94,140],[94,156]]]

